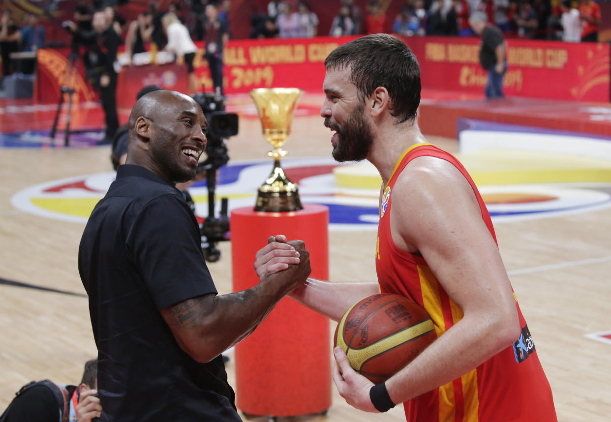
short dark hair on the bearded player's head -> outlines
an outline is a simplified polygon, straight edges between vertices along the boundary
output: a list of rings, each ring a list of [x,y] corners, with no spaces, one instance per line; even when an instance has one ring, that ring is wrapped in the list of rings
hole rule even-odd
[[[415,118],[420,104],[420,66],[411,49],[397,37],[374,34],[338,46],[324,60],[327,70],[350,68],[360,101],[378,87],[390,96],[390,114],[397,123]]]

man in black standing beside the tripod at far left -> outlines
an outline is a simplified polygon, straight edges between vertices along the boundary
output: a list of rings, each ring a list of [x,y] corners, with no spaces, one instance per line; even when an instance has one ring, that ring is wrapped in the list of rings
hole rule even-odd
[[[98,34],[95,45],[89,48],[84,59],[93,86],[100,92],[100,100],[106,120],[106,133],[98,144],[111,144],[117,128],[117,71],[115,60],[121,45],[121,37],[113,29],[106,12],[93,13],[93,29]]]

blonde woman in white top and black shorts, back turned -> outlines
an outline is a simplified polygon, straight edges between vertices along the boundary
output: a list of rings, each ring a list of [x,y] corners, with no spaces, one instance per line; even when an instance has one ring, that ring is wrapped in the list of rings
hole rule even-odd
[[[167,45],[164,51],[174,53],[178,63],[184,63],[187,67],[188,90],[190,93],[199,90],[199,84],[195,76],[193,59],[197,51],[196,45],[191,40],[191,35],[185,25],[183,25],[175,13],[166,13],[161,18],[161,24],[166,32]]]

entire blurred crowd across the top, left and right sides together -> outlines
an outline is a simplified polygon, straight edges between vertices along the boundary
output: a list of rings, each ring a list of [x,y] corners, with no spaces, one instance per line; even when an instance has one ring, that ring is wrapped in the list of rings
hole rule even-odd
[[[601,9],[595,0],[561,0],[552,7],[551,0],[403,0],[396,16],[389,16],[389,1],[371,0],[355,4],[354,0],[332,0],[325,4],[325,11],[334,15],[331,27],[320,27],[319,18],[306,1],[271,0],[265,12],[255,13],[251,18],[251,38],[298,38],[316,35],[358,35],[389,32],[411,37],[414,35],[474,35],[469,26],[469,16],[484,12],[488,21],[497,26],[506,38],[535,38],[565,40],[567,42],[597,41],[601,24]],[[125,40],[125,50],[131,64],[131,57],[145,51],[152,43],[156,51],[162,51],[168,43],[167,28],[162,18],[167,13],[175,16],[181,27],[175,34],[180,36],[178,48],[172,51],[185,59],[191,40],[217,38],[213,44],[220,46],[214,53],[207,52],[218,67],[222,44],[231,36],[229,24],[230,1],[178,0],[159,10],[150,2],[146,10],[131,22],[117,13],[116,2],[78,0],[71,24],[78,31],[92,31],[94,10],[103,9],[112,28]],[[207,5],[213,4],[216,12],[210,18]],[[554,3],[555,4],[555,3]],[[337,9],[335,9],[337,7]],[[97,8],[97,9],[96,9]],[[396,9],[395,9],[396,10]],[[328,24],[328,23],[327,23]],[[220,38],[219,38],[219,34]],[[2,11],[0,21],[0,53],[2,76],[10,75],[10,54],[17,51],[36,51],[45,43],[45,29],[38,23],[38,17],[31,14],[13,16],[10,10]],[[185,49],[186,48],[186,49]],[[189,59],[189,57],[187,57]],[[212,67],[211,67],[212,69]]]

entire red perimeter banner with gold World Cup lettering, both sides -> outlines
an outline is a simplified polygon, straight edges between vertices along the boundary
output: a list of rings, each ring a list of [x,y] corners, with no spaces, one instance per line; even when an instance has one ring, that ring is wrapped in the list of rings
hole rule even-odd
[[[225,48],[225,93],[246,93],[262,87],[297,87],[322,92],[324,59],[338,45],[354,37],[316,37],[273,40],[231,40]],[[480,40],[459,37],[404,38],[414,51],[427,89],[481,93],[486,71],[478,59]],[[609,102],[610,46],[605,43],[564,43],[511,39],[508,43],[508,71],[505,94],[565,101]],[[203,89],[212,90],[210,71],[199,47],[194,67]],[[59,92],[68,49],[45,49],[39,54],[40,100],[53,100]],[[59,63],[62,62],[62,63]],[[82,78],[82,99],[93,97]],[[186,90],[183,65],[123,67],[119,76],[119,107],[131,107],[135,93],[144,85]],[[54,101],[54,100],[53,100]]]

